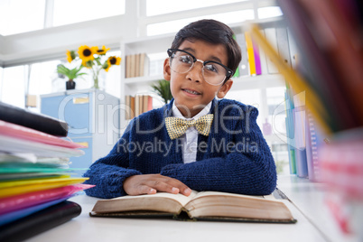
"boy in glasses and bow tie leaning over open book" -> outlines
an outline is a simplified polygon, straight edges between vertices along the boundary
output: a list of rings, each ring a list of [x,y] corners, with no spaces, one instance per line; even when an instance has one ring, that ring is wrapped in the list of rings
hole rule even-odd
[[[176,34],[163,65],[172,101],[135,117],[112,151],[90,166],[84,176],[96,187],[86,190],[89,196],[275,190],[275,162],[256,125],[257,109],[216,99],[232,87],[241,60],[232,36],[214,20]]]

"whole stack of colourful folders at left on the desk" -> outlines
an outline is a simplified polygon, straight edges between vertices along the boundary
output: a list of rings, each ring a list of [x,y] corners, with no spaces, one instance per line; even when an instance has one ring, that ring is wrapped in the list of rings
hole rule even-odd
[[[67,127],[0,102],[1,241],[33,237],[79,216],[79,204],[68,199],[92,186],[71,176],[69,158],[84,152],[61,138]]]

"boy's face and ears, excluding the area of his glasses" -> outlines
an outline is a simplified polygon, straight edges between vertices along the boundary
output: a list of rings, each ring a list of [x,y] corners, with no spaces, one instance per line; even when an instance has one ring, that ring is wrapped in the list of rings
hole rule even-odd
[[[219,61],[228,64],[226,48],[222,44],[211,44],[204,41],[184,41],[179,46],[180,50],[188,51],[201,61]],[[203,65],[197,61],[187,73],[177,73],[170,68],[170,60],[166,59],[163,65],[164,79],[170,81],[170,88],[175,105],[185,117],[197,115],[206,107],[213,98],[224,98],[232,87],[233,81],[228,79],[218,86],[210,85],[203,79],[201,69]]]

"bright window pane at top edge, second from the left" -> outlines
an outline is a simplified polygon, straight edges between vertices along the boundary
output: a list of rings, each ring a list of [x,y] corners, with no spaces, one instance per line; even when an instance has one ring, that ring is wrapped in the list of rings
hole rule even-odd
[[[53,26],[125,14],[125,0],[54,0]]]

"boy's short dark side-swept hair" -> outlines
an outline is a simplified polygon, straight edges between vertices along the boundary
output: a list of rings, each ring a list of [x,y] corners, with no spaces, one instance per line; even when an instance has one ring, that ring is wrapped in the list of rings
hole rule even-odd
[[[224,23],[212,19],[203,19],[183,27],[172,42],[172,49],[178,49],[185,40],[201,40],[212,44],[223,44],[228,54],[228,68],[236,72],[241,61],[241,49],[233,39],[233,31]]]

